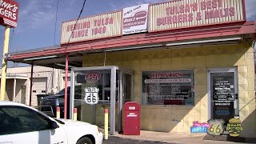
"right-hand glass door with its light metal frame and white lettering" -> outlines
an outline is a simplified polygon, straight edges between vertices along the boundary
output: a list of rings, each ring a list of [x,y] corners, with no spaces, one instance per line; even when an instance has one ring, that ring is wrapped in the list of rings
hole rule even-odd
[[[210,118],[223,119],[224,126],[230,118],[238,116],[237,70],[210,70],[208,72]]]

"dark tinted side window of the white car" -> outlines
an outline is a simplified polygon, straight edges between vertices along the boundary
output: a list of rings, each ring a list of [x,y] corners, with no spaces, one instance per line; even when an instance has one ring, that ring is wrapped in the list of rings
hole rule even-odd
[[[48,118],[22,106],[0,106],[0,135],[49,130]]]

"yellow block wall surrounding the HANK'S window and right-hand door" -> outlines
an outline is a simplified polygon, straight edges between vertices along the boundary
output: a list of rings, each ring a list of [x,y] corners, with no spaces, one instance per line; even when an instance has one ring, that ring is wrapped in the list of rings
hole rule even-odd
[[[83,66],[103,66],[104,54],[84,54]],[[106,66],[134,70],[134,101],[141,102],[143,70],[193,69],[195,106],[142,106],[141,129],[190,133],[194,121],[207,122],[207,70],[237,68],[242,136],[256,137],[254,50],[250,42],[233,46],[206,46],[154,51],[126,50],[106,53]]]

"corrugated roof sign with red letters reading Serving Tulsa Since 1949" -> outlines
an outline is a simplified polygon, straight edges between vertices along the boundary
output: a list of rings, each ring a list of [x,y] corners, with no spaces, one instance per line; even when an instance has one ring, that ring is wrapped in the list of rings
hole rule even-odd
[[[61,44],[122,35],[122,12],[117,11],[62,23]]]

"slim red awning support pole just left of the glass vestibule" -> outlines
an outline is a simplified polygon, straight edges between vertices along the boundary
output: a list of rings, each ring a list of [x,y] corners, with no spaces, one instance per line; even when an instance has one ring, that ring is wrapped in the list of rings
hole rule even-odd
[[[65,73],[65,104],[64,104],[64,118],[66,119],[66,112],[67,112],[67,76],[69,73],[69,54],[66,53],[66,73]]]

